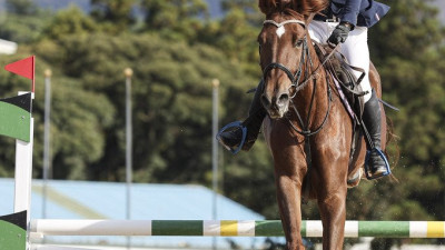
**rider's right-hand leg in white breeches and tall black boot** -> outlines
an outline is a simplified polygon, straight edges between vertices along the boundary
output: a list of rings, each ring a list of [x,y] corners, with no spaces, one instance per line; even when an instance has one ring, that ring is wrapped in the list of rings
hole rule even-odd
[[[356,27],[350,31],[349,37],[340,48],[342,53],[346,57],[349,64],[365,70],[365,78],[360,82],[363,91],[367,91],[364,96],[365,110],[363,121],[373,141],[374,148],[382,150],[380,128],[382,128],[382,111],[380,104],[369,82],[369,49],[367,43],[367,28]],[[362,72],[354,71],[358,78]],[[370,150],[370,149],[369,149]],[[373,176],[380,176],[387,172],[385,160],[380,157],[377,150],[369,152],[369,167]]]

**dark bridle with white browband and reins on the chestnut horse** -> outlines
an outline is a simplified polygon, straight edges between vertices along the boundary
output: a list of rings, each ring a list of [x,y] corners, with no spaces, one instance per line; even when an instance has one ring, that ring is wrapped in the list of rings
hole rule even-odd
[[[288,24],[288,23],[298,23],[298,24],[301,24],[305,28],[305,30],[307,29],[306,23],[304,21],[296,20],[296,19],[286,20],[284,22],[279,22],[279,23],[274,21],[274,20],[265,20],[263,22],[263,24],[267,24],[267,23],[274,24],[277,28],[280,28],[280,27],[283,27],[285,24]],[[334,49],[334,51],[336,49]],[[334,53],[334,51],[333,51],[333,53]],[[297,72],[293,73],[286,66],[284,66],[283,63],[279,63],[279,62],[270,62],[263,70],[263,82],[264,82],[265,86],[267,84],[266,76],[273,69],[283,70],[287,74],[287,77],[290,79],[291,84],[289,87],[289,92],[294,91],[293,96],[290,97],[290,103],[293,104],[294,111],[295,111],[295,113],[296,113],[296,116],[298,118],[298,121],[300,123],[300,128],[303,128],[303,129],[301,130],[298,129],[290,121],[290,119],[287,118],[287,120],[289,121],[290,127],[296,132],[298,132],[298,133],[300,133],[300,134],[303,134],[305,137],[309,137],[309,136],[318,133],[323,129],[323,127],[326,124],[327,118],[329,117],[329,111],[330,111],[330,106],[332,106],[330,102],[333,101],[333,99],[332,99],[332,90],[330,90],[328,77],[326,77],[327,96],[328,96],[328,108],[327,108],[327,111],[326,111],[326,114],[325,114],[325,118],[324,118],[322,124],[318,128],[316,128],[315,130],[310,130],[309,129],[309,119],[310,119],[310,113],[312,113],[312,109],[313,109],[313,103],[315,101],[315,92],[316,92],[316,87],[317,87],[316,82],[317,82],[317,79],[319,78],[318,71],[323,68],[323,66],[326,63],[326,61],[329,59],[329,57],[333,53],[330,53],[323,61],[323,63],[318,64],[318,67],[315,70],[312,70],[312,72],[309,73],[309,69],[314,68],[314,62],[310,59],[309,47],[307,46],[307,36],[305,36],[303,38],[301,54],[300,54],[300,60],[299,60],[299,66],[298,66]],[[306,79],[300,80],[303,69],[305,69],[305,73],[304,74],[307,76],[307,77],[306,77]],[[304,89],[309,82],[313,82],[314,88],[313,88],[313,93],[312,93],[312,100],[310,100],[310,104],[309,104],[308,116],[307,116],[306,122],[304,122],[303,119],[301,119],[301,116],[299,114],[299,112],[298,112],[298,110],[297,110],[297,108],[296,108],[296,106],[295,106],[293,100],[294,100],[295,96],[298,93],[298,91]],[[266,88],[264,88],[264,89],[266,89]]]

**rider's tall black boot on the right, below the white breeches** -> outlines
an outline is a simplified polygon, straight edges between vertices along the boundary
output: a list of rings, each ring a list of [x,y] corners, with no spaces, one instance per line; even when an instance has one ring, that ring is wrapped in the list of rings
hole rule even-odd
[[[363,122],[369,133],[369,138],[373,141],[374,148],[382,151],[382,140],[380,140],[380,128],[382,128],[382,111],[380,104],[373,90],[370,99],[365,103],[365,110],[363,113]],[[374,177],[384,176],[387,173],[387,168],[384,156],[379,154],[377,150],[369,149],[368,166],[370,169],[370,174]]]

